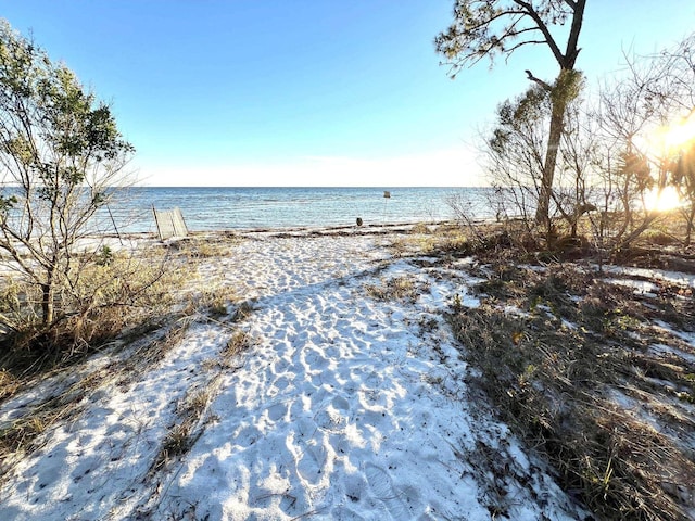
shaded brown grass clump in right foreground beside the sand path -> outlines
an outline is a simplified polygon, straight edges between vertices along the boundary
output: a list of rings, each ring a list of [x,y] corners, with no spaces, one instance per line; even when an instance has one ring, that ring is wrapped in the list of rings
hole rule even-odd
[[[669,298],[641,298],[569,267],[494,267],[478,291],[479,308],[450,315],[480,371],[471,383],[565,490],[599,519],[690,519],[695,447],[679,433],[695,429],[695,367],[648,348],[656,339],[686,348],[650,326]],[[693,307],[683,301],[680,312],[692,319]]]

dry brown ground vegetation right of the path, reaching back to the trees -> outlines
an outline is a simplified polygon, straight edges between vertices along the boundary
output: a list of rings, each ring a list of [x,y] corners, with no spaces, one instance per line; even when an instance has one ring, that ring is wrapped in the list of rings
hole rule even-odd
[[[580,220],[580,233],[589,225]],[[470,383],[598,519],[695,512],[693,288],[607,271],[611,264],[695,272],[679,226],[659,220],[612,251],[581,234],[536,237],[514,220],[419,228],[391,244],[395,257],[435,256],[427,266],[476,257],[481,305],[454,298],[450,314],[479,371]],[[393,297],[396,285],[372,296]],[[497,506],[491,513],[504,513],[504,501]]]

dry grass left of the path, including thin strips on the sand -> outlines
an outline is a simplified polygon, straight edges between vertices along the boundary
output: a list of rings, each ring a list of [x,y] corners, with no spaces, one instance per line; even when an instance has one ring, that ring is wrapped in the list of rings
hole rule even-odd
[[[66,315],[48,331],[31,320],[16,328],[10,350],[0,357],[0,402],[52,377],[58,377],[56,395],[29,404],[21,417],[0,425],[0,472],[10,475],[9,470],[42,446],[58,425],[76,419],[94,392],[109,385],[128,387],[146,379],[180,344],[192,323],[213,321],[231,332],[229,341],[219,363],[210,367],[215,371],[204,387],[191,390],[179,404],[177,420],[168,429],[151,471],[188,450],[202,433],[202,419],[222,373],[235,369],[232,360],[251,345],[250,338],[231,325],[248,318],[252,304],[239,303],[231,288],[214,281],[201,291],[192,277],[198,259],[228,255],[236,242],[236,238],[212,244],[197,240],[186,249],[156,249],[130,257],[110,253],[108,263],[85,266],[79,278],[83,285],[63,295],[62,309],[72,306],[80,313]],[[29,300],[29,287],[13,282],[4,289],[5,313],[17,300]],[[87,308],[80,308],[81,304],[88,304]],[[84,372],[89,366],[81,361],[105,348],[111,348],[111,361]],[[61,385],[67,370],[74,378],[66,380],[73,383]]]

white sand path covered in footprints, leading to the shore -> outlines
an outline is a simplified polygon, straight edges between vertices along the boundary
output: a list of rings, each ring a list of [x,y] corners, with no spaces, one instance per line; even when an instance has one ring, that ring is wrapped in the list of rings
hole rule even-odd
[[[12,469],[0,520],[582,519],[464,383],[442,312],[455,293],[477,305],[466,263],[421,268],[386,241],[261,237],[204,267],[253,313],[193,325],[150,372],[104,376],[77,420]],[[415,302],[369,295],[396,277],[419,288]],[[254,339],[237,368],[204,364],[233,328]],[[72,372],[3,404],[0,428]],[[208,385],[190,450],[148,475],[177,404]]]

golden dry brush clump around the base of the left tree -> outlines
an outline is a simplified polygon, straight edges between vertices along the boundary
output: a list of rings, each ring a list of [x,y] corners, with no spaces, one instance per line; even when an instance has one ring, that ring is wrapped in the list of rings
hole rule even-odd
[[[35,285],[5,280],[0,318],[10,325],[0,368],[30,378],[79,361],[121,336],[161,321],[170,313],[172,290],[186,277],[160,249],[138,255],[112,254],[105,264],[76,265],[73,285],[60,293],[56,321],[38,320],[40,297]]]

